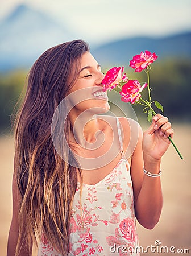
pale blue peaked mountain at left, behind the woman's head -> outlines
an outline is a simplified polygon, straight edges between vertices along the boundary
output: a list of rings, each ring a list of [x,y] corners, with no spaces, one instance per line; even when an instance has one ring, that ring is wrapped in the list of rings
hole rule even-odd
[[[28,67],[45,49],[74,38],[67,24],[19,5],[0,23],[0,70]]]

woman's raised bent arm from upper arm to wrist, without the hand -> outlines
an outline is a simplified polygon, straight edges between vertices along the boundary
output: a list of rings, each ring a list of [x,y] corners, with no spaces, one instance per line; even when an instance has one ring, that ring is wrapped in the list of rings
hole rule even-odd
[[[150,162],[143,160],[142,136],[139,134],[138,145],[131,160],[131,178],[134,188],[135,216],[139,223],[147,229],[155,227],[159,221],[163,206],[163,195],[160,177],[149,177],[144,174],[144,168],[153,173],[160,170],[160,160]]]

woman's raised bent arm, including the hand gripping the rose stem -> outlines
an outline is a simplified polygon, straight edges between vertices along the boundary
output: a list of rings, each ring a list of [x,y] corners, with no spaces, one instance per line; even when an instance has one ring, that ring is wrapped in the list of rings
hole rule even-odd
[[[143,167],[152,174],[159,173],[161,156],[167,151],[170,143],[168,136],[172,137],[172,134],[171,123],[160,114],[153,118],[150,128],[144,133],[139,126],[138,143],[131,158],[131,179],[136,218],[148,229],[154,228],[159,221],[163,195],[160,176],[147,176]]]

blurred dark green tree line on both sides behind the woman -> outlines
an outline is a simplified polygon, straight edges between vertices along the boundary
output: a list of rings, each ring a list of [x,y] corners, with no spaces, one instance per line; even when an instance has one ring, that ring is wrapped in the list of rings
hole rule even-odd
[[[190,122],[190,94],[191,94],[191,63],[186,59],[165,59],[156,61],[151,65],[150,87],[152,100],[161,102],[164,114],[171,121]],[[144,71],[135,73],[126,70],[129,79],[146,82],[147,75]],[[26,84],[27,72],[23,70],[0,73],[0,130],[1,134],[8,133],[11,129],[11,114],[18,101],[20,93]],[[144,91],[143,91],[144,97]],[[134,106],[138,115],[142,114],[141,106]]]

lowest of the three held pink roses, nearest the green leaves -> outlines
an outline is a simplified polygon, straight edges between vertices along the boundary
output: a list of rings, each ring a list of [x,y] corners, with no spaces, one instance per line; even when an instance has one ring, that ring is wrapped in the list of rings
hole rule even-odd
[[[134,104],[135,101],[139,100],[141,96],[140,92],[142,92],[142,90],[146,87],[147,84],[143,84],[142,86],[140,86],[138,80],[128,80],[128,82],[123,85],[122,91],[119,92],[122,96],[121,100]]]

